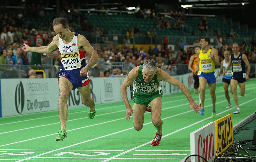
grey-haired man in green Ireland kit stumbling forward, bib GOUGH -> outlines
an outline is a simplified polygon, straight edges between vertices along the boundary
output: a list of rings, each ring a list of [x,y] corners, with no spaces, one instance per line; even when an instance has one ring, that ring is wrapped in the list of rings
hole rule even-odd
[[[161,112],[163,93],[160,87],[161,80],[165,80],[169,84],[181,89],[189,101],[189,108],[191,110],[194,109],[196,113],[200,112],[199,105],[195,103],[187,87],[162,69],[157,68],[154,61],[147,60],[143,65],[132,69],[120,88],[121,96],[126,107],[126,120],[129,121],[133,115],[133,125],[135,130],[141,130],[143,127],[145,110],[152,112],[152,123],[157,131],[151,146],[158,146],[162,138],[163,121],[161,120]],[[132,84],[133,109],[128,101],[126,91]],[[150,104],[151,110],[147,106],[148,104]]]

